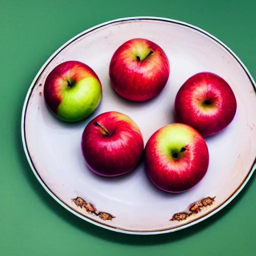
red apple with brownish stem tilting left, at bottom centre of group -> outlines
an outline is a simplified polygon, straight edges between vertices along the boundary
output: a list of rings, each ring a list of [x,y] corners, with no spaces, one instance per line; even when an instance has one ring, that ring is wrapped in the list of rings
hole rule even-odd
[[[117,176],[137,166],[144,144],[139,127],[130,117],[110,111],[97,115],[86,125],[81,148],[92,171]]]

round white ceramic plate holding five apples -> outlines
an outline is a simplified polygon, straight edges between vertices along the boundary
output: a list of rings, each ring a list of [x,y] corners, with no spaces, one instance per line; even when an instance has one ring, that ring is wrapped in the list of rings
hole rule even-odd
[[[143,37],[159,44],[170,62],[163,91],[143,103],[123,100],[111,88],[108,66],[124,41]],[[88,119],[65,123],[46,108],[43,85],[47,74],[66,60],[80,60],[98,75],[101,104]],[[222,76],[237,100],[237,112],[224,131],[206,138],[209,168],[187,192],[171,194],[147,178],[143,163],[119,177],[91,172],[80,148],[88,121],[101,112],[119,111],[140,127],[144,143],[163,125],[173,122],[177,90],[191,75],[210,71]],[[221,41],[190,24],[156,17],[112,20],[76,35],[41,67],[28,89],[22,112],[22,139],[30,166],[45,190],[63,207],[91,223],[133,234],[175,231],[209,217],[229,203],[255,168],[255,83],[240,59]]]

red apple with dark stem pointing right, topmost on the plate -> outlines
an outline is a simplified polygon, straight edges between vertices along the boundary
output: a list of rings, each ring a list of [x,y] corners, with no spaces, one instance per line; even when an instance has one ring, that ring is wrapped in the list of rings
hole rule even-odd
[[[123,98],[145,101],[157,96],[169,76],[169,61],[160,46],[143,38],[124,42],[114,52],[109,76]]]

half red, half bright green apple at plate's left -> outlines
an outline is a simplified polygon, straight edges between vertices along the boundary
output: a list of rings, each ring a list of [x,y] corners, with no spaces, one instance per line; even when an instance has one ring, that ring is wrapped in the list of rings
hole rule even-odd
[[[65,61],[47,75],[43,87],[46,104],[64,121],[79,121],[98,106],[101,83],[96,73],[80,61]]]

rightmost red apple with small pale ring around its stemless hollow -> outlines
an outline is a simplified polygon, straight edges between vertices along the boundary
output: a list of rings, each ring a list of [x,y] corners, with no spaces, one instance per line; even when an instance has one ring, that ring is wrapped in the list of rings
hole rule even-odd
[[[235,112],[236,99],[231,87],[211,72],[194,74],[176,94],[175,120],[194,127],[203,137],[226,128]]]

